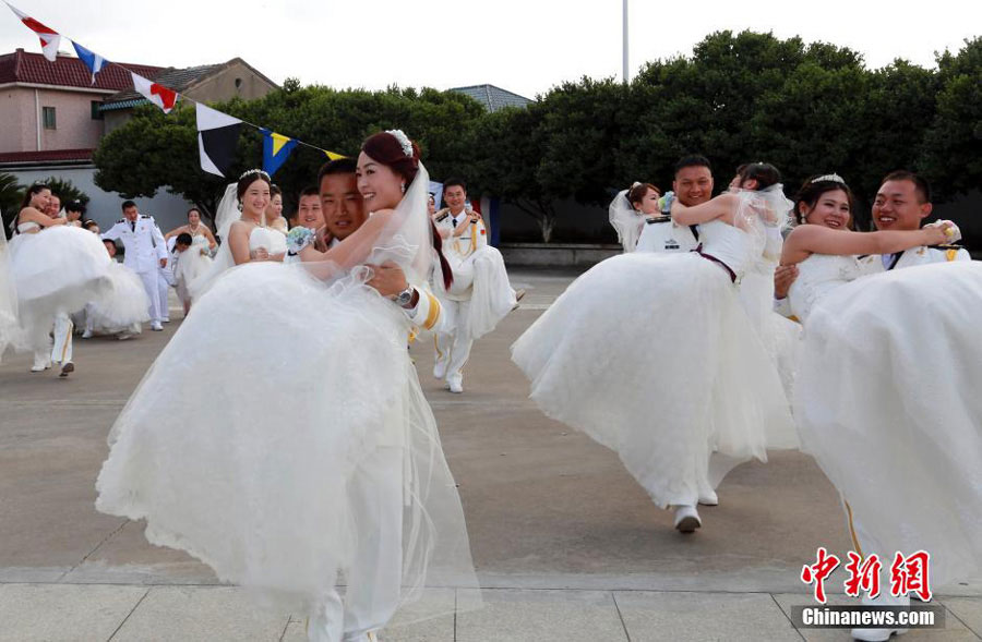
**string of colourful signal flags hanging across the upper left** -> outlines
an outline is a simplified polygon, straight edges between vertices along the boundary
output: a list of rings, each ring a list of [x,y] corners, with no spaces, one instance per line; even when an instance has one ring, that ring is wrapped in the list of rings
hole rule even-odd
[[[145,78],[142,75],[117,64],[105,57],[86,49],[80,45],[74,38],[62,36],[51,27],[41,24],[39,21],[31,17],[26,13],[16,9],[10,2],[4,0],[10,10],[20,19],[24,25],[37,35],[41,44],[41,52],[44,57],[55,62],[58,57],[58,47],[61,45],[62,37],[70,40],[75,53],[88,71],[92,72],[92,84],[95,84],[96,75],[108,65],[116,65],[133,77],[133,88],[140,92],[149,102],[156,105],[164,111],[170,113],[178,101],[183,100],[194,105],[195,118],[197,121],[197,152],[201,157],[201,169],[213,174],[225,178],[231,169],[235,160],[236,147],[239,143],[239,134],[242,125],[247,125],[259,130],[263,136],[263,170],[273,175],[289,158],[290,153],[298,146],[310,147],[324,154],[328,159],[344,158],[344,154],[328,152],[283,134],[278,134],[268,128],[263,128],[251,122],[235,118],[217,109],[212,109],[207,105],[188,98],[182,94],[165,87],[158,83]]]

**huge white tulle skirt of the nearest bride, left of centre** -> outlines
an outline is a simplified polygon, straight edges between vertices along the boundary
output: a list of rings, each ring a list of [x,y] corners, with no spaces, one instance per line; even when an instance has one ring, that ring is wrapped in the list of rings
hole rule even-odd
[[[327,286],[300,266],[231,268],[195,301],[112,427],[97,508],[145,519],[152,543],[302,613],[371,535],[348,481],[395,447],[403,599],[430,585],[476,586],[407,337],[405,315],[350,277]]]

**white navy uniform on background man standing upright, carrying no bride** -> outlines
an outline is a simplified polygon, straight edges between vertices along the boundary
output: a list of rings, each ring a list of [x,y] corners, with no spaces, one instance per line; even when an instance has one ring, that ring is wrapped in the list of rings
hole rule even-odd
[[[167,243],[164,234],[157,227],[154,217],[141,214],[135,221],[121,218],[116,225],[101,234],[103,239],[122,241],[125,247],[123,264],[140,275],[143,288],[151,301],[151,325],[158,326],[166,316],[165,307],[160,305],[160,259],[168,258]],[[166,286],[165,286],[166,287]]]

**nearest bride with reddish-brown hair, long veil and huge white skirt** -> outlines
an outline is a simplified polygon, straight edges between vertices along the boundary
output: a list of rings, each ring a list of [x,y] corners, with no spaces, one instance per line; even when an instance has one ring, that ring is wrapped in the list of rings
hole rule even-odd
[[[368,640],[428,586],[477,588],[409,322],[363,267],[393,262],[422,287],[428,174],[398,131],[366,142],[359,174],[374,210],[361,228],[324,254],[298,228],[308,263],[247,262],[195,301],[112,427],[97,482],[100,511],[145,519],[152,543],[309,614],[311,640]],[[235,230],[227,244],[249,252]],[[271,381],[291,393],[271,397]]]

